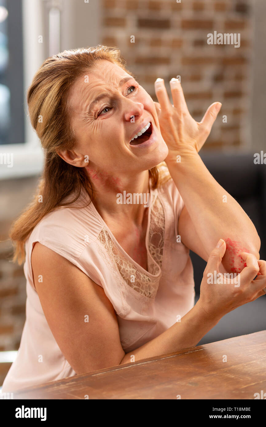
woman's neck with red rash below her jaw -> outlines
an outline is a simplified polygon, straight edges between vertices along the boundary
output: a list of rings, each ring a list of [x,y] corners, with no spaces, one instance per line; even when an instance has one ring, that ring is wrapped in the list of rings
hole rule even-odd
[[[91,164],[85,170],[92,184],[93,204],[104,220],[108,217],[116,222],[126,220],[141,225],[144,211],[149,206],[148,170],[135,174],[133,178],[122,174],[114,176]],[[140,195],[139,202],[136,202],[138,197],[134,198],[134,193]]]

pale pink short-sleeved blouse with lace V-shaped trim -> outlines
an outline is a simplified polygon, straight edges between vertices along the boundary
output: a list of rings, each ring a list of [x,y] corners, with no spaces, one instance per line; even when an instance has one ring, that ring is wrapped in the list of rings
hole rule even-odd
[[[85,205],[83,195],[75,206],[79,201]],[[76,375],[49,328],[33,284],[33,244],[40,242],[67,258],[104,289],[117,313],[121,345],[129,353],[170,328],[195,303],[189,249],[177,242],[183,207],[172,179],[150,190],[148,271],[123,250],[93,203],[58,208],[41,219],[26,240],[26,322],[2,392]]]

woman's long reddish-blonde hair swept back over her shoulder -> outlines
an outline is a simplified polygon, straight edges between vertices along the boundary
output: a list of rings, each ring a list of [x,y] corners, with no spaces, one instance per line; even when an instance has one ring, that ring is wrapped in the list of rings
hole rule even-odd
[[[73,82],[98,60],[110,61],[126,70],[120,50],[115,47],[96,47],[64,50],[47,58],[33,77],[27,91],[29,117],[33,128],[41,140],[45,152],[44,170],[32,202],[12,225],[9,237],[15,243],[13,261],[19,264],[25,259],[24,243],[35,225],[49,212],[62,205],[75,202],[82,191],[93,199],[92,185],[84,168],[65,162],[56,151],[73,149],[76,139],[70,126],[67,95]],[[40,120],[41,117],[41,120]],[[159,169],[149,170],[152,187],[158,185]],[[162,182],[170,178],[164,173]],[[74,192],[67,203],[62,201]],[[38,202],[38,195],[43,202]],[[90,203],[90,202],[89,202]]]

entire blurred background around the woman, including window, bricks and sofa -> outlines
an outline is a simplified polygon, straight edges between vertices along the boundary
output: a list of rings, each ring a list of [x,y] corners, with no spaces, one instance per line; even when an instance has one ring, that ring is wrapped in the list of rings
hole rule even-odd
[[[8,232],[43,165],[25,101],[38,67],[65,49],[105,44],[120,48],[154,100],[158,77],[170,94],[170,79],[180,76],[197,121],[222,102],[200,155],[254,222],[266,259],[265,18],[265,0],[0,0],[0,385],[25,321],[26,279],[23,266],[11,262]],[[207,44],[214,31],[239,33],[240,47]],[[197,300],[205,262],[191,258]],[[265,329],[265,309],[266,297],[239,307],[200,344]]]

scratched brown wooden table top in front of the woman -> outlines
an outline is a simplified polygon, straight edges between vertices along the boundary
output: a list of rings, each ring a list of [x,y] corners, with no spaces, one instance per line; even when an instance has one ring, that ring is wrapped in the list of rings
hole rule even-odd
[[[254,399],[266,391],[266,330],[75,375],[14,399]]]

